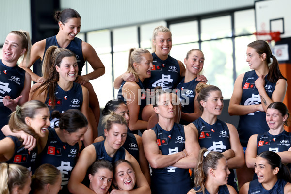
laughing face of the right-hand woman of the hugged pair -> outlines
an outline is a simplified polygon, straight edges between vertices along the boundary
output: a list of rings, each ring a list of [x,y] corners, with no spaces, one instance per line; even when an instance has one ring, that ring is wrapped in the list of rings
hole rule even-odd
[[[119,163],[115,167],[114,180],[119,190],[132,190],[136,181],[133,168],[127,162]]]

